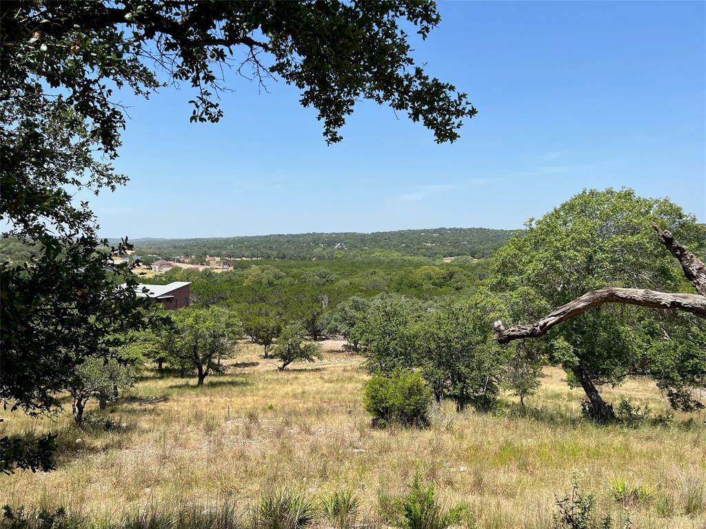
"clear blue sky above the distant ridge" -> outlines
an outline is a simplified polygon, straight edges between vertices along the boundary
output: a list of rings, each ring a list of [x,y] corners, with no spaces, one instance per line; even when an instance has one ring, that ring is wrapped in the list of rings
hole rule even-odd
[[[582,188],[669,196],[706,221],[706,4],[441,2],[414,56],[479,114],[453,145],[361,102],[328,147],[281,81],[228,75],[221,123],[191,90],[133,105],[91,199],[103,236],[236,236],[436,226],[517,228]]]

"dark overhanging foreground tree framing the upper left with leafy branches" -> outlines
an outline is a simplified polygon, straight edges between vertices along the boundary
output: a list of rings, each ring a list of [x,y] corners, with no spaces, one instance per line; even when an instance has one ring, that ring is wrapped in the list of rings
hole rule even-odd
[[[30,265],[0,265],[0,399],[32,413],[54,406],[104,336],[143,326],[136,281],[113,265],[86,202],[126,182],[112,161],[126,124],[116,90],[148,97],[188,83],[191,121],[218,121],[223,66],[259,83],[279,76],[318,111],[328,142],[359,99],[387,103],[453,142],[476,110],[410,56],[403,28],[426,38],[433,3],[13,1],[0,3],[0,220],[3,236],[40,246]],[[48,354],[51,353],[51,354]]]

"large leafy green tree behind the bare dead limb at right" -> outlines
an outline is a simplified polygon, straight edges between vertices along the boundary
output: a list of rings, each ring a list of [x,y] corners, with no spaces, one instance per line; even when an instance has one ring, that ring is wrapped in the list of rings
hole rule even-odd
[[[504,329],[498,320],[496,340],[547,334],[549,359],[584,389],[597,420],[614,418],[598,387],[619,384],[627,375],[654,378],[673,406],[698,406],[690,389],[705,381],[706,297],[666,293],[685,286],[652,225],[668,227],[694,248],[705,240],[702,227],[669,200],[640,198],[632,190],[590,190],[530,220],[525,236],[510,240],[493,259],[494,288],[527,286],[546,306],[560,307],[533,325]],[[671,232],[657,231],[687,278],[706,292],[706,269],[698,258]],[[645,312],[635,305],[683,312]]]

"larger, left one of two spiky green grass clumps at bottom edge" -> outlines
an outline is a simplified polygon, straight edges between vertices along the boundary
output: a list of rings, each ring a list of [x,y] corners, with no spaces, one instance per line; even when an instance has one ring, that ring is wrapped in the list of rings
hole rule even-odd
[[[279,490],[265,494],[253,513],[255,529],[302,529],[316,516],[315,501],[298,492]]]

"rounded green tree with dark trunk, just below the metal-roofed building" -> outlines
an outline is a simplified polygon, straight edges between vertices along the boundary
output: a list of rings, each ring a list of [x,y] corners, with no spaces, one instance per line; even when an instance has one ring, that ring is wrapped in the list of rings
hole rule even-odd
[[[228,310],[220,307],[184,308],[172,315],[174,332],[164,336],[164,347],[174,361],[196,369],[198,382],[211,372],[222,372],[221,358],[229,358],[243,331],[240,322]]]

